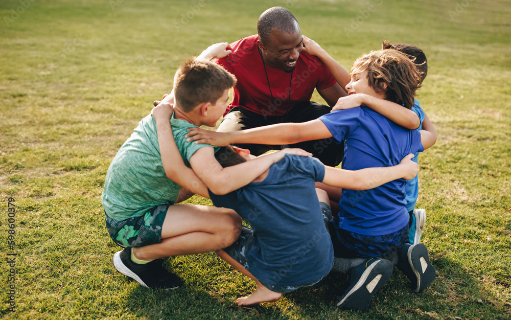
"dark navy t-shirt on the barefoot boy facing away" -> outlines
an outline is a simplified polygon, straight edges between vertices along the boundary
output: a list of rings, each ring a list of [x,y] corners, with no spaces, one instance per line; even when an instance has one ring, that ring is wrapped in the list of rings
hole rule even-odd
[[[210,191],[216,207],[234,209],[250,223],[254,244],[247,263],[259,281],[300,286],[332,268],[332,241],[314,187],[323,177],[318,159],[286,154],[263,181],[222,196]]]

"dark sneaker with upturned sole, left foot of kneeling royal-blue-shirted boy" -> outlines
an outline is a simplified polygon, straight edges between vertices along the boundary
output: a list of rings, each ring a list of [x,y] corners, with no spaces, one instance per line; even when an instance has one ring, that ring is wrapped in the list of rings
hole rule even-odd
[[[350,274],[350,287],[338,298],[339,309],[364,310],[369,306],[373,295],[390,278],[392,262],[381,258],[370,258],[354,268]]]

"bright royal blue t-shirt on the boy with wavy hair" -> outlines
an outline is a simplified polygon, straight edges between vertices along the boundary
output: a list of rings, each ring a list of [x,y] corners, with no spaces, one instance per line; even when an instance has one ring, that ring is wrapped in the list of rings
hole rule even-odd
[[[405,155],[424,150],[419,131],[403,128],[365,106],[333,111],[318,119],[335,140],[344,140],[342,168],[346,170],[395,166]],[[409,221],[405,181],[390,181],[370,190],[342,189],[338,227],[368,236],[401,230]]]

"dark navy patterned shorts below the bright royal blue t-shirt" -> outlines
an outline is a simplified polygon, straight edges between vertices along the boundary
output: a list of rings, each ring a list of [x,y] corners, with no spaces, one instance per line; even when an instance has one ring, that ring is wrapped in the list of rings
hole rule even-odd
[[[337,258],[390,259],[398,248],[408,242],[408,224],[388,235],[367,236],[336,228],[335,223],[334,218],[330,223],[330,237],[334,245],[334,256]]]

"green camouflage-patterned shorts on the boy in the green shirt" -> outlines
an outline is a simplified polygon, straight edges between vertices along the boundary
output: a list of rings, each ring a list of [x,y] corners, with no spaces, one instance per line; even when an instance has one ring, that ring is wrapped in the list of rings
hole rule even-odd
[[[161,204],[143,216],[115,220],[105,213],[106,229],[113,242],[125,247],[140,247],[161,242],[161,226],[170,204]]]

